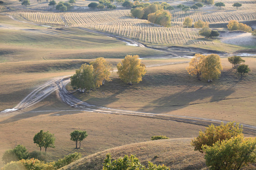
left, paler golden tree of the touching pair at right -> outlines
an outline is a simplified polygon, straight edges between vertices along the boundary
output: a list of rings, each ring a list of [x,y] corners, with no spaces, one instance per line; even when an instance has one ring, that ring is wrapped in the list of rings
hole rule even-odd
[[[202,54],[195,54],[195,56],[191,59],[189,66],[186,68],[188,71],[188,74],[195,76],[197,75],[197,78],[201,79],[201,70],[202,70],[202,61],[205,58],[205,55]]]

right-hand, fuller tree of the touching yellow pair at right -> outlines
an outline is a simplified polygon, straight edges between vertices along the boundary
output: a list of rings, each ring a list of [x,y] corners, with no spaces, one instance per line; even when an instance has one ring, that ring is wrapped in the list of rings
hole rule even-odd
[[[201,75],[203,78],[208,79],[208,82],[211,82],[213,78],[218,78],[223,69],[218,54],[206,56],[201,64]]]

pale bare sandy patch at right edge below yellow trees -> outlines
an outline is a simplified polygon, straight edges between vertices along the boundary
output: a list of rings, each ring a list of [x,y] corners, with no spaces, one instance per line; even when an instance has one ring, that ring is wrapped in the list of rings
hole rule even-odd
[[[256,37],[243,31],[219,32],[219,37],[221,42],[227,44],[256,46]]]

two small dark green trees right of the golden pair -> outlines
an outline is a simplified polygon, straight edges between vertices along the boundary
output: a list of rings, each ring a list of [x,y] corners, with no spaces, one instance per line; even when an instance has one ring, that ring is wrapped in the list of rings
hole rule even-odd
[[[243,78],[243,76],[245,76],[250,71],[248,65],[241,64],[244,63],[245,60],[242,59],[240,56],[232,56],[229,57],[228,60],[232,64],[232,68],[237,68],[237,71],[240,74],[241,78]]]

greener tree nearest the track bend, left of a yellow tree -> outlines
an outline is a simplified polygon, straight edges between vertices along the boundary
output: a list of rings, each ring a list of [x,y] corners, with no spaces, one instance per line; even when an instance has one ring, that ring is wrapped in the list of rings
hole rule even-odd
[[[91,90],[95,87],[95,76],[93,66],[83,64],[79,69],[75,70],[75,74],[70,77],[71,85],[78,88],[80,92]]]

